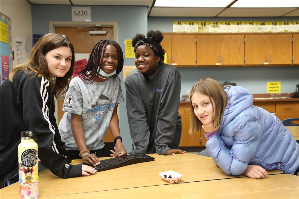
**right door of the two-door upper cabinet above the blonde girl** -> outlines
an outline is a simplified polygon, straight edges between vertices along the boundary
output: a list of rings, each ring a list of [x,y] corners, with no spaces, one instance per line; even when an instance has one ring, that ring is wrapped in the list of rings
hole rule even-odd
[[[244,65],[244,35],[221,35],[221,65]]]

